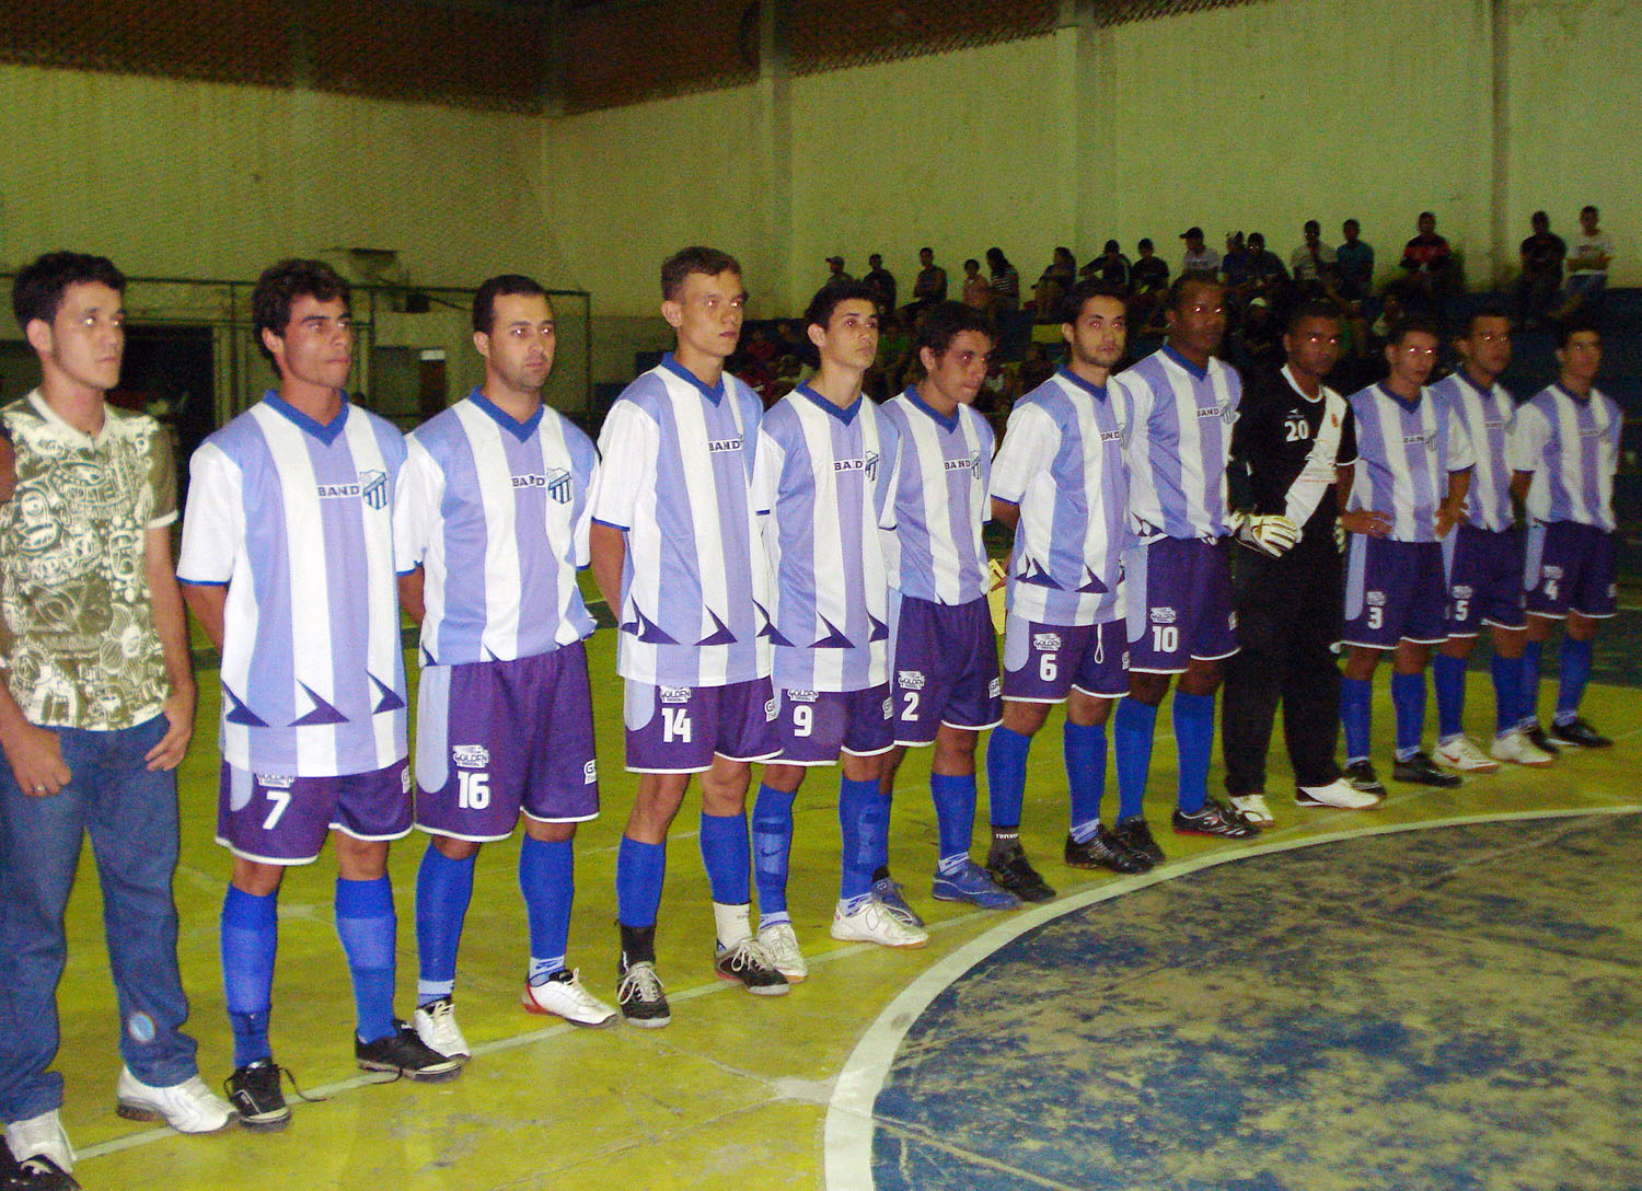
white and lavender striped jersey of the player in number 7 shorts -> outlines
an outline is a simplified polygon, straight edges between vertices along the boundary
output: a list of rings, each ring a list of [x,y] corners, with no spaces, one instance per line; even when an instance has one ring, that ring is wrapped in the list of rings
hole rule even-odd
[[[276,393],[194,452],[177,578],[228,588],[222,757],[256,774],[366,774],[406,757],[392,501],[404,435]]]

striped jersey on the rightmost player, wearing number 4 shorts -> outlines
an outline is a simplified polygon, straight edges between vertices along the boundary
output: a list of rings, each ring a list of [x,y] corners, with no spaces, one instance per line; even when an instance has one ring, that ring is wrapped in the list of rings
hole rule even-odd
[[[1576,398],[1562,384],[1540,389],[1517,411],[1511,467],[1532,471],[1527,511],[1534,521],[1578,521],[1612,531],[1619,470],[1619,406],[1591,389]]]

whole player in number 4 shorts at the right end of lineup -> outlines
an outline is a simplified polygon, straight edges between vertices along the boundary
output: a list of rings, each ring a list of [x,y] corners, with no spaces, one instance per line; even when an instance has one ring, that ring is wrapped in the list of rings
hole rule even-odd
[[[1614,614],[1614,471],[1619,406],[1594,388],[1603,337],[1578,324],[1557,329],[1557,383],[1517,411],[1511,490],[1527,504],[1529,631],[1522,654],[1522,728],[1540,749],[1606,749],[1611,739],[1580,718],[1591,678],[1596,623]],[[1557,718],[1540,728],[1540,651],[1565,621]]]

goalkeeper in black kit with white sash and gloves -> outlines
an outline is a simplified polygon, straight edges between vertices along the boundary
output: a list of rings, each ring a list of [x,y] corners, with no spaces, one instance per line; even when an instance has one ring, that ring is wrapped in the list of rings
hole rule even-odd
[[[1250,376],[1232,435],[1233,491],[1248,476],[1253,509],[1236,552],[1241,651],[1227,664],[1220,739],[1227,793],[1245,818],[1271,825],[1266,751],[1282,728],[1302,807],[1363,810],[1379,802],[1340,775],[1337,649],[1345,577],[1335,540],[1338,468],[1356,462],[1345,398],[1323,384],[1340,358],[1340,314],[1302,302],[1282,335],[1287,363]],[[1355,517],[1379,514],[1358,513]],[[1348,526],[1351,527],[1351,526]],[[1366,527],[1358,527],[1366,532]]]

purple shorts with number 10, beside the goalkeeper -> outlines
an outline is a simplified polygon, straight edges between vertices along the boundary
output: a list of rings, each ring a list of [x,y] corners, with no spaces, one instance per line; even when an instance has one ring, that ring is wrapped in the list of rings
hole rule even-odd
[[[1123,552],[1130,670],[1184,674],[1192,659],[1238,651],[1230,549],[1230,539],[1159,537]]]

